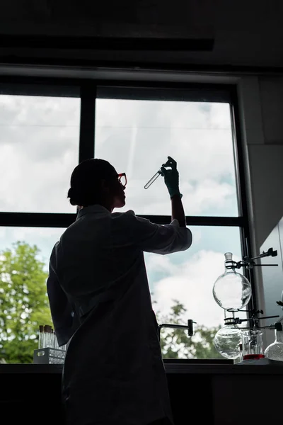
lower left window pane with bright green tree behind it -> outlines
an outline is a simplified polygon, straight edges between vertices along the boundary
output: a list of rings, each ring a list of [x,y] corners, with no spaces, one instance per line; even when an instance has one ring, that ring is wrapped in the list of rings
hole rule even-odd
[[[0,227],[0,363],[33,363],[40,324],[52,325],[46,278],[62,228]]]

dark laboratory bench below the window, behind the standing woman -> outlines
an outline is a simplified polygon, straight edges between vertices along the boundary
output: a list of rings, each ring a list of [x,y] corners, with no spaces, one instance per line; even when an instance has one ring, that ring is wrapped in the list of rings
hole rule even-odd
[[[283,362],[164,365],[175,425],[282,421]],[[2,423],[64,425],[61,378],[62,365],[0,364]]]

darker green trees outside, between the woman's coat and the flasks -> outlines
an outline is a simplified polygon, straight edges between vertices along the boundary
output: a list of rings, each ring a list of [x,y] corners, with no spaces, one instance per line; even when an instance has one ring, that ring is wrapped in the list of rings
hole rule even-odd
[[[186,324],[182,317],[187,310],[178,300],[173,300],[173,302],[168,316],[161,317],[160,312],[156,312],[158,324]],[[194,325],[193,336],[188,336],[186,329],[162,328],[161,351],[163,358],[222,358],[214,347],[214,335],[219,329],[220,326],[208,328]]]

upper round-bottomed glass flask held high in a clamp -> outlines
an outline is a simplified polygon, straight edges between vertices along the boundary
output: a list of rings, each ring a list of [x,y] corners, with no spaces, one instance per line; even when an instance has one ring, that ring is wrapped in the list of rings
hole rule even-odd
[[[250,282],[233,268],[233,254],[225,254],[225,273],[216,279],[213,285],[213,296],[217,304],[224,310],[237,311],[250,301],[252,288]]]

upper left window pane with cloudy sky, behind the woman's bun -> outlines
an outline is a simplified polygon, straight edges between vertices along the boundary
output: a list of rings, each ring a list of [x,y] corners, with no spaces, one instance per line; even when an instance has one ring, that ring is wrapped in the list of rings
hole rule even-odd
[[[79,98],[0,96],[1,211],[75,212],[80,108]]]

